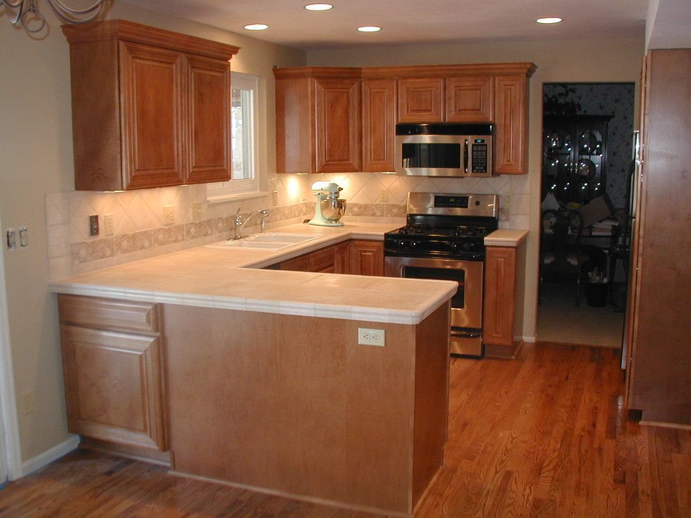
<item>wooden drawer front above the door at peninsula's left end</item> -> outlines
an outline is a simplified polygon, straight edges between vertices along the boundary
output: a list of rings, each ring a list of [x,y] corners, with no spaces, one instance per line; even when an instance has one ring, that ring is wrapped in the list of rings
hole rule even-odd
[[[148,302],[59,295],[60,321],[98,329],[158,332],[158,309]]]

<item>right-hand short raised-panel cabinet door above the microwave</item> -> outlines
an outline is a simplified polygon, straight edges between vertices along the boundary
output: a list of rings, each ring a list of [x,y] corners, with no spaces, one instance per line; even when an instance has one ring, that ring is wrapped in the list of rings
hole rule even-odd
[[[446,80],[447,122],[491,122],[493,118],[493,77],[449,77]]]

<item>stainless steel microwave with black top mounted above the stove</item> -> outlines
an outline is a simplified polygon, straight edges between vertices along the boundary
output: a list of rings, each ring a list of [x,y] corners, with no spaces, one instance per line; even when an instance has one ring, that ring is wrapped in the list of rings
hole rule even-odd
[[[493,124],[396,124],[396,174],[490,177]]]

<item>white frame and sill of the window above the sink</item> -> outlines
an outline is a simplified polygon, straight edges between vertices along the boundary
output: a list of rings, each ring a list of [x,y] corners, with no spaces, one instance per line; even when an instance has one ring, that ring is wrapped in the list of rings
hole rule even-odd
[[[231,72],[230,87],[252,91],[250,138],[253,178],[234,180],[231,171],[230,181],[207,184],[207,201],[209,202],[254,198],[266,194],[259,191],[259,77]]]

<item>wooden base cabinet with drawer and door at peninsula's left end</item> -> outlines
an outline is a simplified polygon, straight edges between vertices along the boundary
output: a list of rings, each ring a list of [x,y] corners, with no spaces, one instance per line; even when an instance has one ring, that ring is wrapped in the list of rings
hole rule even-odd
[[[155,304],[59,295],[68,427],[161,460],[167,449]]]

